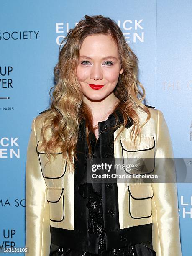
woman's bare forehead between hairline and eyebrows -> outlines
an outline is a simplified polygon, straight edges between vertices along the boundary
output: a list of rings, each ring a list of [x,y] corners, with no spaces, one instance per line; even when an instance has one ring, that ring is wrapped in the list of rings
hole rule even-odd
[[[118,47],[110,35],[95,34],[87,36],[81,46],[80,54],[106,54],[118,56]]]

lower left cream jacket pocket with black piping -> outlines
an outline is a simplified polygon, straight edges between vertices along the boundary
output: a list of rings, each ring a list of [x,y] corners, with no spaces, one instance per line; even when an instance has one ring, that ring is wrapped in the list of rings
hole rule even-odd
[[[49,202],[49,217],[51,221],[59,222],[64,219],[63,188],[48,187],[47,201]]]

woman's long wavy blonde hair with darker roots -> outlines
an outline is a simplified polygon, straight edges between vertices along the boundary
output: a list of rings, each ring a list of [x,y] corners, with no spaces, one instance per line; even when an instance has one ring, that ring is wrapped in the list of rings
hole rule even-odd
[[[88,136],[90,131],[94,132],[95,130],[91,110],[82,100],[82,89],[77,79],[80,49],[87,36],[94,34],[110,35],[118,47],[123,73],[119,75],[118,83],[114,89],[115,96],[120,100],[114,110],[118,108],[123,115],[122,130],[125,128],[129,117],[132,118],[131,140],[135,133],[135,143],[137,137],[141,139],[141,127],[151,118],[148,108],[142,103],[146,94],[144,87],[137,78],[138,58],[125,41],[118,24],[109,17],[102,15],[85,15],[84,17],[85,19],[81,19],[74,28],[69,30],[67,36],[61,42],[59,61],[54,67],[55,85],[49,91],[51,105],[49,111],[42,114],[44,115],[44,121],[41,128],[41,150],[46,152],[46,156],[50,160],[51,155],[56,156],[54,153],[59,146],[60,152],[62,152],[67,164],[71,164],[73,171],[73,155],[78,160],[75,147],[80,133],[79,124],[82,119],[85,118],[86,120],[86,140],[90,158],[92,154]],[[139,90],[139,86],[143,92]],[[147,113],[146,121],[141,126],[136,112],[137,108]],[[115,127],[117,127],[117,115],[115,115],[115,118]],[[51,138],[48,139],[46,132],[50,129]]]

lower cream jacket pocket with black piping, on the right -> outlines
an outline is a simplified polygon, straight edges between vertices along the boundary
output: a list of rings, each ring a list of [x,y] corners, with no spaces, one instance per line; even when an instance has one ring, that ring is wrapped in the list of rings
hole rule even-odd
[[[129,214],[133,219],[149,218],[151,198],[154,196],[151,184],[128,185]]]

